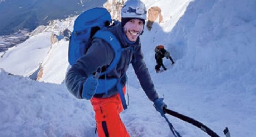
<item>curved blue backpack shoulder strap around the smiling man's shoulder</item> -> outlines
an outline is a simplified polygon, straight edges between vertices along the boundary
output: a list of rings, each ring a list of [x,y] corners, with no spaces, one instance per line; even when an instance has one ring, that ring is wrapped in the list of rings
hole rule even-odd
[[[122,47],[121,47],[120,42],[115,37],[115,35],[113,35],[113,33],[111,33],[110,31],[107,31],[107,30],[98,30],[95,33],[95,35],[93,35],[93,38],[100,38],[100,39],[103,39],[104,41],[106,41],[108,44],[110,44],[110,46],[112,47],[112,49],[115,53],[115,57],[114,57],[113,61],[111,62],[111,64],[107,67],[105,72],[102,72],[100,74],[100,75],[104,75],[116,67],[117,63],[119,62],[119,60],[121,58]]]

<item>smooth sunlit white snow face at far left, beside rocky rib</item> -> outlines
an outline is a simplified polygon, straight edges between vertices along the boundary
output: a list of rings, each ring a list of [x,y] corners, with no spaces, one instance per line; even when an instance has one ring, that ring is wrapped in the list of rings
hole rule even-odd
[[[0,58],[0,67],[16,75],[32,74],[49,51],[50,35],[50,32],[40,33],[13,47]]]

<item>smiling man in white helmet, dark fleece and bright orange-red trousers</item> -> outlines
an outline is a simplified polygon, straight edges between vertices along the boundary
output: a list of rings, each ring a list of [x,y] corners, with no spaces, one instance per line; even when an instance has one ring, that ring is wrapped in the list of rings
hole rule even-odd
[[[119,113],[127,108],[123,101],[124,95],[122,95],[122,91],[119,92],[119,89],[121,86],[121,90],[125,93],[127,81],[125,72],[130,64],[132,64],[146,95],[154,102],[156,110],[164,115],[163,107],[166,107],[166,104],[163,102],[163,98],[158,98],[141,51],[139,36],[143,33],[146,15],[146,7],[143,2],[128,0],[122,7],[121,23],[109,29],[119,40],[122,48],[127,48],[127,50],[122,51],[116,68],[106,76],[99,78],[119,79],[120,83],[117,82],[116,86],[109,89],[107,93],[96,93],[99,85],[98,79],[92,75],[99,66],[102,67],[102,71],[106,70],[115,56],[111,46],[102,39],[93,39],[86,54],[72,65],[66,75],[65,82],[69,91],[77,98],[91,101],[99,137],[129,137],[119,116]]]

